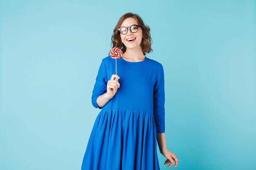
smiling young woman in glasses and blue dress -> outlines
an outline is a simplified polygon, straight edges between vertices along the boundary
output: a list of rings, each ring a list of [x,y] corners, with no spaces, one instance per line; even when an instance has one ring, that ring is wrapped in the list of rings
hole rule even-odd
[[[150,47],[150,29],[139,15],[126,13],[112,35],[113,47],[123,56],[101,61],[92,105],[101,109],[83,157],[82,170],[159,170],[159,150],[168,167],[178,164],[166,148],[164,122],[164,69],[145,53]],[[174,162],[175,161],[175,162]]]

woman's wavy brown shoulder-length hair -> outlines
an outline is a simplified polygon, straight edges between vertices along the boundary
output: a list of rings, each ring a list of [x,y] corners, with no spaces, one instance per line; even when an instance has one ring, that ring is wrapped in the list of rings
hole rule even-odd
[[[115,29],[113,31],[114,33],[112,34],[112,37],[111,37],[111,40],[112,40],[111,44],[113,44],[112,47],[118,47],[123,51],[123,53],[126,52],[126,46],[121,41],[121,36],[118,29],[121,27],[121,24],[123,23],[123,21],[126,18],[130,18],[130,17],[135,18],[135,20],[137,20],[138,24],[142,28],[142,34],[144,38],[142,38],[140,46],[143,54],[145,55],[146,53],[150,53],[151,51],[153,51],[153,49],[151,48],[152,38],[150,37],[150,32],[149,32],[150,28],[149,26],[144,24],[144,22],[142,21],[141,17],[138,14],[130,13],[130,12],[121,16],[121,18],[117,22],[117,25],[115,26]]]

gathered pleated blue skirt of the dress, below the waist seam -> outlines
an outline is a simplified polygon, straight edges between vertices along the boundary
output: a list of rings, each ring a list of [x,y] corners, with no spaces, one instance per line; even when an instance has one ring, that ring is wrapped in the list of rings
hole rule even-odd
[[[92,128],[82,169],[159,170],[155,134],[150,113],[123,109],[101,112]]]

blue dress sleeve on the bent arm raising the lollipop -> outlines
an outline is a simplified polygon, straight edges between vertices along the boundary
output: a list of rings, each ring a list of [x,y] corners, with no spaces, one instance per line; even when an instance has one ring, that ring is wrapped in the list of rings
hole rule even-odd
[[[106,66],[102,59],[101,65],[99,67],[98,75],[96,77],[96,82],[94,84],[94,88],[92,91],[92,105],[95,108],[99,108],[99,109],[103,108],[103,107],[99,107],[96,101],[99,96],[107,92],[107,84],[108,84],[108,77],[106,72]]]

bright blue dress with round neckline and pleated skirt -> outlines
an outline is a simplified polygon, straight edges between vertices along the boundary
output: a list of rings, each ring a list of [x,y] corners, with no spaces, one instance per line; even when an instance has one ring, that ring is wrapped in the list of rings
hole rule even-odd
[[[107,92],[113,74],[120,88],[108,103],[96,100]],[[164,69],[145,57],[141,62],[101,61],[92,91],[92,105],[101,109],[83,157],[82,170],[159,170],[157,133],[165,131]]]

